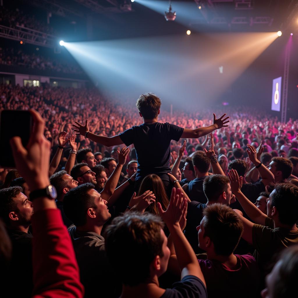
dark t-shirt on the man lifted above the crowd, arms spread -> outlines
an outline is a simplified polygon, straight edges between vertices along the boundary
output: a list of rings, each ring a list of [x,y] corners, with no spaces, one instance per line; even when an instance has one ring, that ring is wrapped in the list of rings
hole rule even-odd
[[[134,144],[138,171],[136,180],[148,174],[156,174],[162,180],[169,181],[170,173],[170,142],[179,141],[184,128],[160,122],[143,123],[120,134],[122,142],[129,146]]]

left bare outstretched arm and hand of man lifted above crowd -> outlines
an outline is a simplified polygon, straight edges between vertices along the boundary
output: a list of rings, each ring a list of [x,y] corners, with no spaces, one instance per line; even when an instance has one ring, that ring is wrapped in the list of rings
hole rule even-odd
[[[117,136],[99,136],[97,134],[93,134],[91,131],[89,131],[88,127],[88,119],[86,119],[85,125],[80,124],[79,122],[75,121],[76,125],[73,124],[72,126],[75,128],[75,132],[78,134],[81,134],[82,136],[85,136],[86,138],[90,139],[93,142],[96,142],[98,144],[104,145],[106,147],[116,146],[123,144],[119,134]]]

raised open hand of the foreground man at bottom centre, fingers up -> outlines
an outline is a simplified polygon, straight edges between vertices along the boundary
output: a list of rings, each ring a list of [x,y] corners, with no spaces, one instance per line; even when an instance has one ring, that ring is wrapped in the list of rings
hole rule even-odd
[[[175,224],[179,224],[181,217],[185,212],[184,209],[187,208],[187,199],[184,198],[180,188],[173,187],[170,204],[167,207],[167,210],[162,210],[162,205],[160,203],[157,203],[157,207],[159,215],[166,225],[168,227],[174,226]]]

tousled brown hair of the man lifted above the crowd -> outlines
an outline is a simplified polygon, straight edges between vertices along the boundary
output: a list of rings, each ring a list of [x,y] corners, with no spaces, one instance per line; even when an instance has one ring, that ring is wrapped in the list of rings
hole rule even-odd
[[[144,119],[156,118],[161,105],[160,98],[153,93],[142,94],[136,101],[136,107]]]

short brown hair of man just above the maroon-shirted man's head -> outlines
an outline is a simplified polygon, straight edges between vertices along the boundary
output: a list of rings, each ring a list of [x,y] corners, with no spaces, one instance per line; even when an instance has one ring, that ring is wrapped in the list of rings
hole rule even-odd
[[[203,182],[204,194],[208,201],[217,201],[218,197],[228,189],[230,179],[224,175],[206,176]]]

